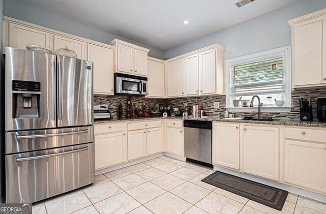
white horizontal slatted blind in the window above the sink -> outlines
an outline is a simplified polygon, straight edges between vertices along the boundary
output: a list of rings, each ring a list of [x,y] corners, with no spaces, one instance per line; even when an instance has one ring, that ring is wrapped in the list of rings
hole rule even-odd
[[[232,66],[230,75],[232,97],[285,91],[284,57]]]

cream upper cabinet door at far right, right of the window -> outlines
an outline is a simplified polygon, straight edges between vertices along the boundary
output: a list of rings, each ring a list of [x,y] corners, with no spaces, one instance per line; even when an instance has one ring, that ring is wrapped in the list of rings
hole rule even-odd
[[[293,30],[294,86],[326,83],[326,15],[294,24]]]

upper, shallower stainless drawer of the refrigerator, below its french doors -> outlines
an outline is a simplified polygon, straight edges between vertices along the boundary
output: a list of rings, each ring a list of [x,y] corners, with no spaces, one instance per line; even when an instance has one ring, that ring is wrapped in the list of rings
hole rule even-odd
[[[94,142],[94,127],[6,133],[6,154]]]

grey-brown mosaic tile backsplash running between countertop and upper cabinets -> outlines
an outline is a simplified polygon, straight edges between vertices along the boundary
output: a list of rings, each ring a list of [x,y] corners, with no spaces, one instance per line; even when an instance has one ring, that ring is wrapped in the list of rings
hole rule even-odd
[[[304,89],[292,91],[292,109],[290,112],[262,112],[262,117],[272,116],[274,118],[289,118],[289,119],[300,119],[300,98],[310,98],[312,109],[313,109],[313,119],[317,120],[316,106],[317,98],[326,98],[326,88],[314,88],[314,89]],[[118,117],[118,108],[120,101],[123,104],[123,116],[126,115],[126,102],[127,96],[94,96],[94,103],[107,104],[110,107],[113,118]],[[191,97],[191,98],[173,98],[173,99],[147,99],[144,97],[132,97],[133,106],[143,106],[145,102],[147,110],[149,107],[159,105],[170,105],[173,107],[183,107],[184,103],[193,103],[195,105],[203,105],[204,110],[213,116],[223,116],[225,109],[225,96],[213,96],[213,97]],[[213,108],[214,102],[220,102],[220,108]],[[230,111],[232,112],[232,111]],[[255,116],[258,117],[258,112],[234,112],[236,116]]]

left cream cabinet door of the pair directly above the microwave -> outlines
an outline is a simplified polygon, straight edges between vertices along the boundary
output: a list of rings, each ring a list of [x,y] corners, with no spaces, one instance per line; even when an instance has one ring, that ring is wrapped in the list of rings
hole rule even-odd
[[[133,48],[122,44],[117,45],[117,70],[133,73]]]

